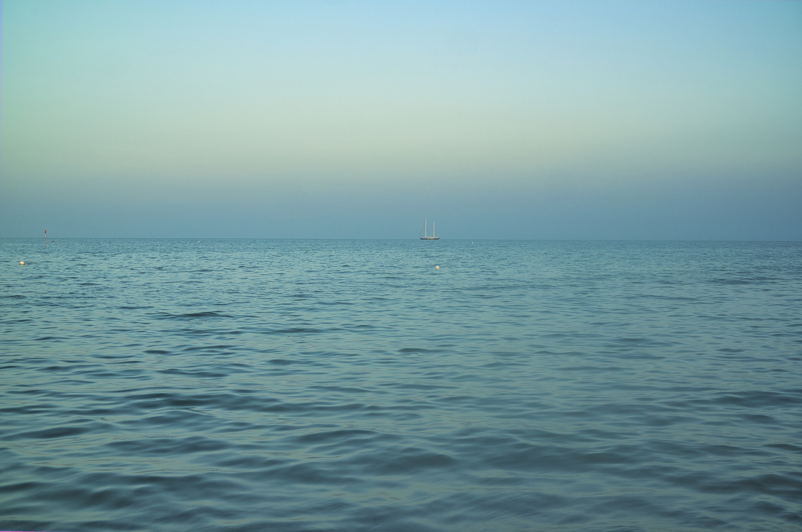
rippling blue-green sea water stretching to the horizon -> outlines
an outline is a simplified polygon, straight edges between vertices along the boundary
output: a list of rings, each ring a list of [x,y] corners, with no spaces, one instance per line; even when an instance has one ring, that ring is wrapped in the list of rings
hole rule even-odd
[[[802,527],[800,243],[5,239],[0,269],[2,530]]]

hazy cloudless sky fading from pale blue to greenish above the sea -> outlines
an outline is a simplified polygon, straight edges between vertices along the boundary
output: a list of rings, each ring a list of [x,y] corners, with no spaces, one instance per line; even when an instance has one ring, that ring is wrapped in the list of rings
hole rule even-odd
[[[802,2],[2,3],[0,236],[802,241]]]

